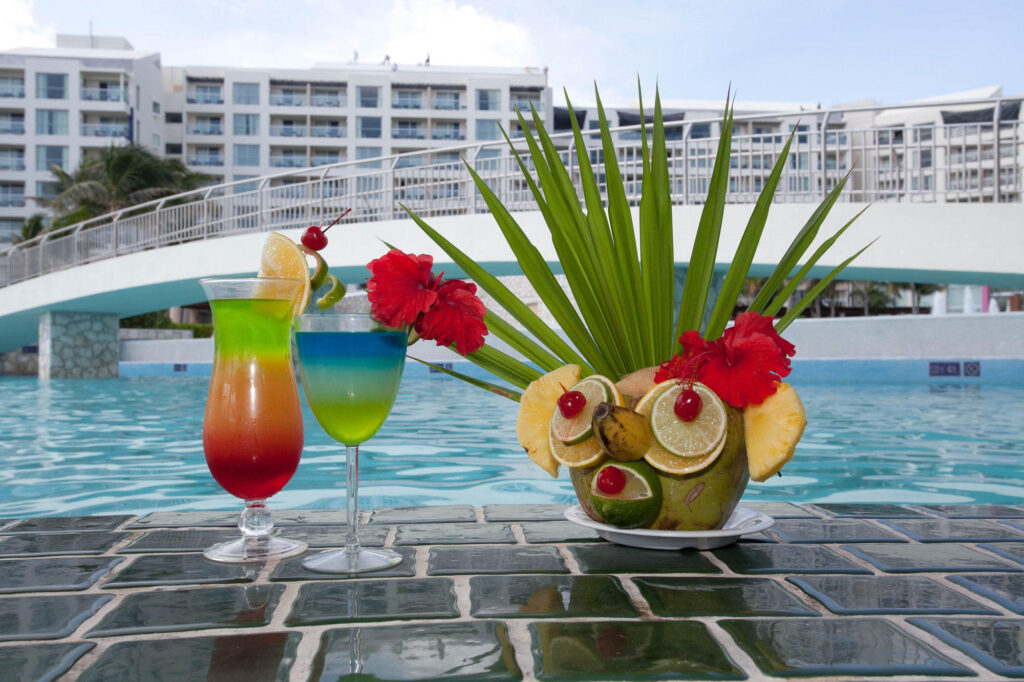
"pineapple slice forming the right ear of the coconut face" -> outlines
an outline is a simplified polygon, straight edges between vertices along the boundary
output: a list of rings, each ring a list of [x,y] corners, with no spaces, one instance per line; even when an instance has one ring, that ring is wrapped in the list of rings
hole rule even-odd
[[[778,390],[761,404],[743,410],[751,478],[763,481],[778,473],[793,459],[806,424],[804,403],[796,389],[785,383],[779,383]]]

